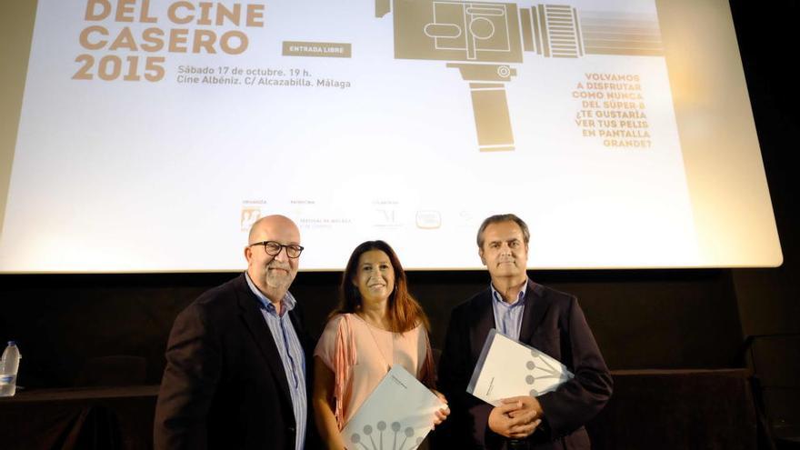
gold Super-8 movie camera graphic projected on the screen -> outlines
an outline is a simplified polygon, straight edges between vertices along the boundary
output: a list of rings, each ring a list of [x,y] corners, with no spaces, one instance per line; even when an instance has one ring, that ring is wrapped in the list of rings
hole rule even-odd
[[[394,16],[395,58],[445,61],[472,95],[478,149],[514,150],[505,95],[525,52],[545,58],[662,56],[655,15],[587,11],[570,5],[375,0],[375,16]]]

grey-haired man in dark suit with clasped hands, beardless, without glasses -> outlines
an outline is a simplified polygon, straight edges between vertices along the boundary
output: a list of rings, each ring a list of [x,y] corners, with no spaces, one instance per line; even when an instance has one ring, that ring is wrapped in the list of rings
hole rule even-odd
[[[583,425],[611,395],[611,375],[575,296],[528,279],[529,240],[515,215],[493,215],[478,231],[478,255],[492,283],[450,316],[439,387],[452,414],[437,436],[448,447],[588,449]],[[553,356],[575,377],[553,392],[504,399],[497,407],[466,394],[492,328]]]

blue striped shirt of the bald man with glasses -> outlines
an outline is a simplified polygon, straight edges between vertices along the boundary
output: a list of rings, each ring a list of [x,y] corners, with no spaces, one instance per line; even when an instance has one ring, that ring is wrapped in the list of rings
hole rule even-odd
[[[308,414],[308,398],[305,394],[305,354],[303,345],[297,337],[295,327],[289,319],[289,311],[295,308],[295,297],[286,292],[281,300],[281,314],[278,315],[275,305],[266,298],[253,284],[250,275],[245,272],[245,279],[250,290],[253,291],[261,302],[261,315],[264,315],[266,325],[275,339],[275,346],[284,363],[286,381],[289,383],[289,393],[292,395],[292,408],[295,410],[295,450],[303,450],[305,445],[305,419]],[[265,418],[268,420],[268,418]]]

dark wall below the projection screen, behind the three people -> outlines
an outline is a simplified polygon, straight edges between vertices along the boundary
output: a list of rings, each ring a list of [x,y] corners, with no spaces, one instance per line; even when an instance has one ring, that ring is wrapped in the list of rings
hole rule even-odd
[[[20,383],[71,385],[91,357],[139,355],[158,383],[175,315],[208,287],[235,274],[5,275],[0,338],[19,341]],[[335,306],[339,274],[301,273],[292,291],[319,332]],[[741,326],[728,271],[532,273],[579,295],[608,365],[631,368],[741,366]],[[412,272],[412,292],[430,315],[440,346],[450,308],[488,283],[484,272]]]

